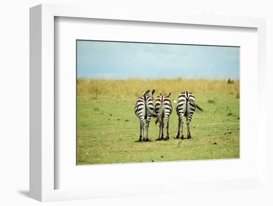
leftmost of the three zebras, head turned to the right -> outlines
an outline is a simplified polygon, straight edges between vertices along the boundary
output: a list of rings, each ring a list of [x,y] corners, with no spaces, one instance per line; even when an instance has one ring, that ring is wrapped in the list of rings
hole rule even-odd
[[[136,116],[139,118],[140,124],[140,134],[139,134],[139,142],[141,142],[141,138],[143,135],[143,141],[148,142],[148,129],[149,123],[151,121],[151,117],[156,117],[154,114],[154,106],[153,106],[153,97],[155,90],[153,89],[152,92],[150,90],[146,92],[142,92],[142,96],[140,96],[135,104],[135,113]],[[144,128],[144,120],[146,120],[146,125]],[[144,138],[144,130],[146,130],[146,136]]]

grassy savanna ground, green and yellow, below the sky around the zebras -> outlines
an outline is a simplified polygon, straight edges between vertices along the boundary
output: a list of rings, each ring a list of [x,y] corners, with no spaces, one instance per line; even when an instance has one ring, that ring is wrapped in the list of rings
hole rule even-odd
[[[138,142],[136,99],[142,91],[184,91],[195,94],[197,111],[191,122],[192,139],[174,139],[178,116],[173,105],[170,140],[156,141],[159,128],[151,120],[150,142]],[[239,81],[223,80],[87,80],[77,84],[77,164],[152,162],[239,158]],[[184,120],[184,136],[186,136]]]

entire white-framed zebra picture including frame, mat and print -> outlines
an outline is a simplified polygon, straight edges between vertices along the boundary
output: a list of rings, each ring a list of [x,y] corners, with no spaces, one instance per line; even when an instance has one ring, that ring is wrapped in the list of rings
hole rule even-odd
[[[32,198],[267,190],[265,19],[42,4],[30,40]]]

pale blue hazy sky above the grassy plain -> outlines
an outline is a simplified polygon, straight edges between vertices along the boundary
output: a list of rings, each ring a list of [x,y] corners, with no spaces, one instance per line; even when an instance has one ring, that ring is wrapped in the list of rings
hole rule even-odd
[[[239,79],[239,48],[77,41],[77,77]]]

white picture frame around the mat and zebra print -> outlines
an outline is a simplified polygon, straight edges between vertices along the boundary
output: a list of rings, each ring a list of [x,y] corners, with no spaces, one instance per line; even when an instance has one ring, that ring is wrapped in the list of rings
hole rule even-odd
[[[109,185],[107,189],[55,189],[54,172],[56,148],[54,147],[54,17],[78,17],[95,19],[130,20],[144,22],[165,22],[177,24],[198,24],[230,27],[257,28],[258,32],[258,98],[259,105],[266,101],[266,20],[253,17],[231,16],[189,16],[162,14],[150,16],[126,10],[115,12],[108,10],[103,13],[92,7],[41,4],[30,9],[30,197],[39,201],[79,200],[103,197],[123,197],[134,195],[168,194],[179,190],[210,190],[229,188],[239,190],[238,185],[249,185],[254,190],[267,190],[266,179],[266,114],[258,117],[259,142],[257,142],[257,176],[248,179],[218,180],[197,183],[165,183],[165,191],[159,190],[158,185],[139,184],[132,188],[119,188]],[[263,107],[265,108],[265,107]],[[258,135],[258,134],[256,134]],[[203,187],[202,187],[203,185]],[[237,186],[235,186],[237,185]],[[245,188],[245,187],[243,187]],[[246,186],[247,188],[247,186]],[[203,188],[204,189],[204,188]]]

